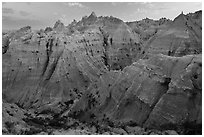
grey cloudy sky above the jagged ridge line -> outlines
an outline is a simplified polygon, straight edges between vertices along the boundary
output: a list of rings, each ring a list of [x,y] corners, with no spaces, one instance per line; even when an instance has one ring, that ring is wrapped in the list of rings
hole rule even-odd
[[[32,29],[53,27],[57,20],[65,25],[73,19],[79,21],[92,11],[97,16],[114,16],[123,21],[144,18],[174,19],[202,9],[201,2],[3,2],[2,29],[19,29],[30,25]]]

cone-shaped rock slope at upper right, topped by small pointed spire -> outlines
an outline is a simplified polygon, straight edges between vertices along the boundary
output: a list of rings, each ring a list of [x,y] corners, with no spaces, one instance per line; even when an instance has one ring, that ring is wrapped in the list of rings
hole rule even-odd
[[[184,14],[176,17],[173,23],[159,31],[145,44],[144,51],[149,54],[162,53],[169,56],[200,54],[202,50],[202,29]]]

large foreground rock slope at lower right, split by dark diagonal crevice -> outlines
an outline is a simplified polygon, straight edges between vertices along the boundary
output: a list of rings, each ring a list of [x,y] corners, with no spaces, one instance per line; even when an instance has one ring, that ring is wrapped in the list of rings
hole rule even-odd
[[[201,124],[201,69],[201,55],[139,60],[123,71],[101,76],[70,115],[161,129]]]

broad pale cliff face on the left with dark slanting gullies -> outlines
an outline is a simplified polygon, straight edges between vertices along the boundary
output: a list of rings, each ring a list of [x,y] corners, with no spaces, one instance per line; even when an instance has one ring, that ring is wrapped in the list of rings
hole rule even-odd
[[[3,96],[23,107],[58,105],[75,99],[107,71],[103,37],[98,32],[62,37],[45,45],[12,43],[3,54]]]

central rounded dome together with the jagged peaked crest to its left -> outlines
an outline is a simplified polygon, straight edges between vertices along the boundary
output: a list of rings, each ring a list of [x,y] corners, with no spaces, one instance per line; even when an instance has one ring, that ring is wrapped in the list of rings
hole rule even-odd
[[[69,27],[82,33],[87,29],[99,28],[104,36],[103,46],[106,51],[106,65],[109,69],[123,69],[139,58],[142,49],[139,35],[118,18],[97,17],[92,13],[79,22],[74,20]]]

